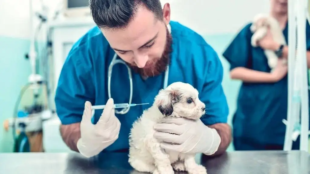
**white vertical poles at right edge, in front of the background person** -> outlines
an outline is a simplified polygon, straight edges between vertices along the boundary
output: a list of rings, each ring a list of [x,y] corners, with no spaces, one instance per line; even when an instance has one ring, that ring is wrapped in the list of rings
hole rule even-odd
[[[309,102],[306,57],[307,18],[309,20],[308,0],[288,0],[288,110],[287,121],[282,120],[283,123],[286,124],[283,148],[283,150],[286,151],[292,150],[293,141],[296,141],[299,135],[299,149],[308,151]]]

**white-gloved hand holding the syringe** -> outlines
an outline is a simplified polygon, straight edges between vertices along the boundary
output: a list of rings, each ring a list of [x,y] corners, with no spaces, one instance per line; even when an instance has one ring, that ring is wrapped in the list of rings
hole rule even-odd
[[[77,147],[85,157],[92,157],[110,146],[117,140],[121,123],[115,116],[113,99],[110,98],[97,124],[91,123],[91,102],[85,102],[85,109],[81,121],[81,138]]]

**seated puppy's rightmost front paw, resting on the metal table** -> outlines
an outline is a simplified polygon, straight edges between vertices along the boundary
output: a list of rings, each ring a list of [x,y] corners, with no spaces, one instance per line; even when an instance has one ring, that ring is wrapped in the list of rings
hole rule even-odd
[[[196,163],[195,154],[186,154],[184,156],[184,166],[189,174],[207,174],[206,167]]]

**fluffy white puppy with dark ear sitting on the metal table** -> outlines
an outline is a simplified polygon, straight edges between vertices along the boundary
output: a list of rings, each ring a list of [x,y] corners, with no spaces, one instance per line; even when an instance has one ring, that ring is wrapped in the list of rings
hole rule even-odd
[[[189,174],[206,174],[206,168],[195,162],[195,154],[180,154],[160,147],[153,137],[153,126],[164,117],[200,119],[205,114],[205,104],[198,91],[190,84],[175,82],[160,90],[153,106],[135,121],[129,136],[129,163],[139,172],[171,174],[187,171]]]

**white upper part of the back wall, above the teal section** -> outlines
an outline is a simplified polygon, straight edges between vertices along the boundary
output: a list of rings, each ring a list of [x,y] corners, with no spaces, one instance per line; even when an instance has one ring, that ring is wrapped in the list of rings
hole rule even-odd
[[[32,0],[33,9],[41,2],[55,10],[61,0]],[[170,3],[171,20],[192,28],[200,34],[235,33],[255,14],[268,12],[269,0],[161,0]],[[0,36],[29,38],[30,0],[0,1]],[[38,20],[36,21],[36,24]],[[42,36],[44,37],[44,36]]]

